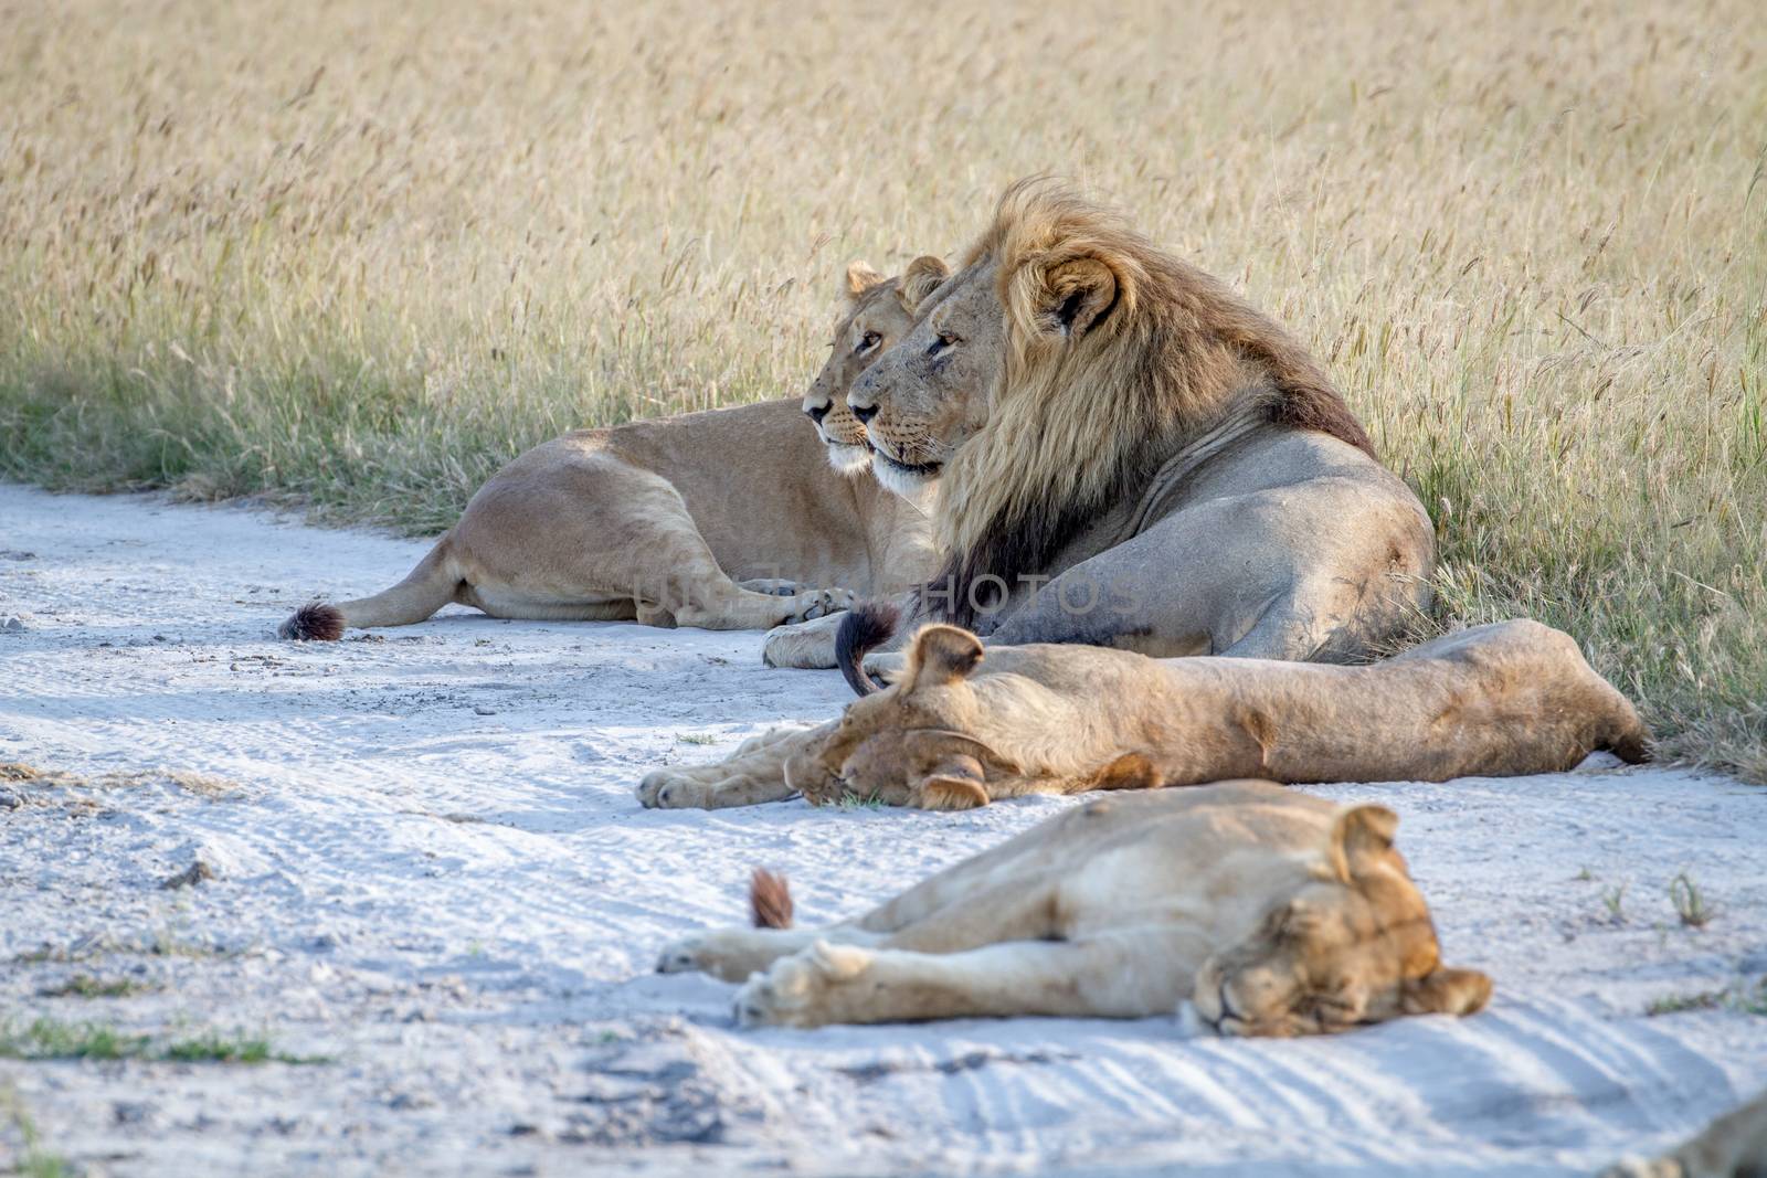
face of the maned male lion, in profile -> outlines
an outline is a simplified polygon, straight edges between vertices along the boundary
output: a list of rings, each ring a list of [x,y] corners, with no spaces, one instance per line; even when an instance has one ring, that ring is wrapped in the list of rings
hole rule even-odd
[[[917,307],[919,321],[848,394],[876,450],[873,472],[901,495],[937,479],[988,422],[1005,348],[995,272],[984,258],[937,288]]]

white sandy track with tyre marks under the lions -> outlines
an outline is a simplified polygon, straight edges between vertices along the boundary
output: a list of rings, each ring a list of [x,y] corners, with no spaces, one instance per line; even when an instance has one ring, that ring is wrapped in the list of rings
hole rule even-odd
[[[647,768],[843,703],[834,673],[762,669],[758,634],[449,611],[272,638],[422,551],[0,487],[0,761],[92,781],[0,782],[0,1010],[334,1058],[0,1060],[48,1150],[111,1174],[1558,1174],[1767,1083],[1767,1017],[1645,1016],[1767,971],[1767,791],[1663,770],[1318,789],[1399,811],[1447,959],[1497,978],[1474,1019],[1306,1042],[1173,1019],[739,1033],[733,987],[650,968],[744,918],[753,864],[830,918],[1066,802],[640,809]],[[159,887],[196,858],[217,878]],[[1718,906],[1703,931],[1670,904],[1682,869]],[[41,993],[80,973],[154,989]]]

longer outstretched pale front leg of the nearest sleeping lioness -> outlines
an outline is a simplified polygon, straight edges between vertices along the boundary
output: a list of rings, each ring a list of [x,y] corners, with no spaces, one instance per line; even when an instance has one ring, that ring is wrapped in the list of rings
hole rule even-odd
[[[818,941],[737,991],[744,1026],[919,1023],[926,1019],[1170,1014],[1189,984],[1163,938],[1143,952],[1119,940],[1004,941],[917,954]],[[1147,961],[1141,961],[1147,957]]]

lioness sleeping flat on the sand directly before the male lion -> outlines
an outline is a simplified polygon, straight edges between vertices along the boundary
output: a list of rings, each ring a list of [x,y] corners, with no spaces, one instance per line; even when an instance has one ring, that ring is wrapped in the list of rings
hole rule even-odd
[[[864,629],[869,608],[848,615]],[[864,639],[850,639],[857,645]],[[845,652],[843,659],[861,650]],[[929,625],[896,682],[820,728],[645,777],[645,805],[747,805],[800,791],[970,809],[1027,793],[1228,777],[1447,781],[1544,774],[1597,749],[1645,758],[1633,705],[1537,622],[1502,622],[1369,666],[1149,659],[1103,646],[990,646]]]

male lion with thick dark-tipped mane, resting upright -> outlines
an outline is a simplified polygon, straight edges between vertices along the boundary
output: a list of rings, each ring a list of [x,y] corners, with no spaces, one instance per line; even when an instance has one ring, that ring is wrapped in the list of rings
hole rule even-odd
[[[1051,182],[848,406],[887,486],[940,482],[919,616],[993,643],[1346,661],[1428,604],[1430,517],[1308,351]]]

